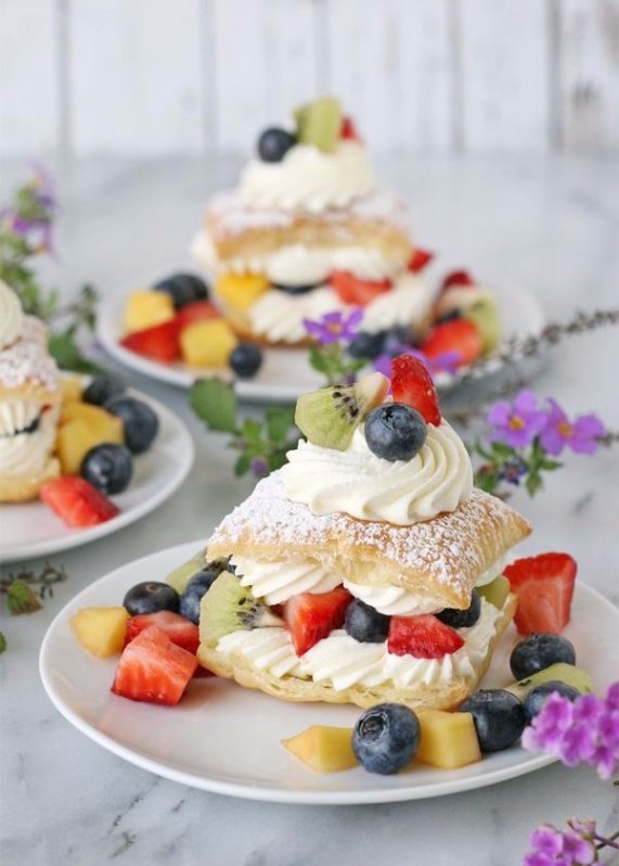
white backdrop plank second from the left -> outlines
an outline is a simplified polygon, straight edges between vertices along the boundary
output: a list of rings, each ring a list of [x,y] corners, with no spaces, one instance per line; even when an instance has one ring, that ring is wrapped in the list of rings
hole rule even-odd
[[[201,150],[198,2],[73,0],[78,153]]]

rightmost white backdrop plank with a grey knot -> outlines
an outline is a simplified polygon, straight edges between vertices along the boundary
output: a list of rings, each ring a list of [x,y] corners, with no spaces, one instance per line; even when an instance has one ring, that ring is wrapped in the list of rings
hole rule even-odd
[[[619,0],[558,4],[559,145],[619,148]]]

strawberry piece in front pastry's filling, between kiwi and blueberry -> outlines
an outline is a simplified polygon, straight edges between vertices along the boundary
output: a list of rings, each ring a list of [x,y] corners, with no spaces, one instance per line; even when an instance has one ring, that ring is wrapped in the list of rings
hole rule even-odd
[[[326,637],[344,622],[346,608],[352,596],[343,586],[331,593],[301,593],[284,606],[284,620],[297,655]]]

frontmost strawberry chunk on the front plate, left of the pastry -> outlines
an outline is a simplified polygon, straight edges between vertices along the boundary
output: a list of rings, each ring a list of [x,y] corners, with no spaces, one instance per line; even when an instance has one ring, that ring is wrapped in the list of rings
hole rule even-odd
[[[177,647],[151,625],[122,650],[112,691],[132,701],[177,704],[197,666],[191,652]]]

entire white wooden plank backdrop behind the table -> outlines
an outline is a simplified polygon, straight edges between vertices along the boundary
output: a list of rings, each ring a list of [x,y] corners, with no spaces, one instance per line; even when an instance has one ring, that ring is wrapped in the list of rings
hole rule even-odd
[[[0,154],[247,152],[338,94],[379,152],[619,149],[619,0],[0,0]]]

